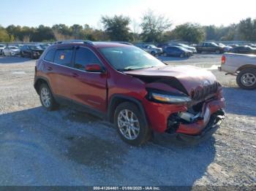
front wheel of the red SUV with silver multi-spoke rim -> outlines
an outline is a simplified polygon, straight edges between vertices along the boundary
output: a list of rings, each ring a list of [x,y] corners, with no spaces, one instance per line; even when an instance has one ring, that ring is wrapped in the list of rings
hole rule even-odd
[[[146,119],[131,102],[124,102],[116,107],[114,124],[121,139],[132,146],[145,144],[151,138],[151,129],[146,124]]]

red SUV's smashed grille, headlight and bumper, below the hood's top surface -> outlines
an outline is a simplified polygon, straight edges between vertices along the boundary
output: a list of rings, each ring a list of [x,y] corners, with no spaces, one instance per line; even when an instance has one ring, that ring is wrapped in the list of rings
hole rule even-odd
[[[152,127],[183,141],[199,141],[210,136],[225,118],[225,100],[218,82],[199,86],[191,93],[181,92],[167,83],[146,85],[146,111]],[[153,120],[152,120],[153,119]]]

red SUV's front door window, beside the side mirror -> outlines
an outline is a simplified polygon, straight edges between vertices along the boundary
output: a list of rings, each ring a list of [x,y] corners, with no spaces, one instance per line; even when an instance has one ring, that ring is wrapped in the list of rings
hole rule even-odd
[[[94,52],[91,52],[91,50],[89,50],[88,48],[78,47],[78,49],[75,52],[74,67],[76,69],[84,70],[86,65],[89,65],[92,63],[101,64],[97,56],[94,55]]]

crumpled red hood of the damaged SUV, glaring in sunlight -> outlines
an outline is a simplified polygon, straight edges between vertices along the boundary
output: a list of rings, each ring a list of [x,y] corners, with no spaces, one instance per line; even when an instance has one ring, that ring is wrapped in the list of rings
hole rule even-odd
[[[125,71],[124,73],[135,77],[161,77],[163,79],[174,77],[181,82],[181,85],[184,86],[189,95],[197,87],[213,85],[216,82],[216,77],[211,71],[206,71],[195,66],[163,66]]]

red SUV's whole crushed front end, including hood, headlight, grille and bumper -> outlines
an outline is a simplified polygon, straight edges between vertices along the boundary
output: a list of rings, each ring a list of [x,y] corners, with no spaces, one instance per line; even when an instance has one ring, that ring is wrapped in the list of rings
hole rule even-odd
[[[214,133],[225,118],[222,86],[208,71],[170,69],[129,72],[145,83],[148,93],[143,106],[151,128],[183,139]]]

